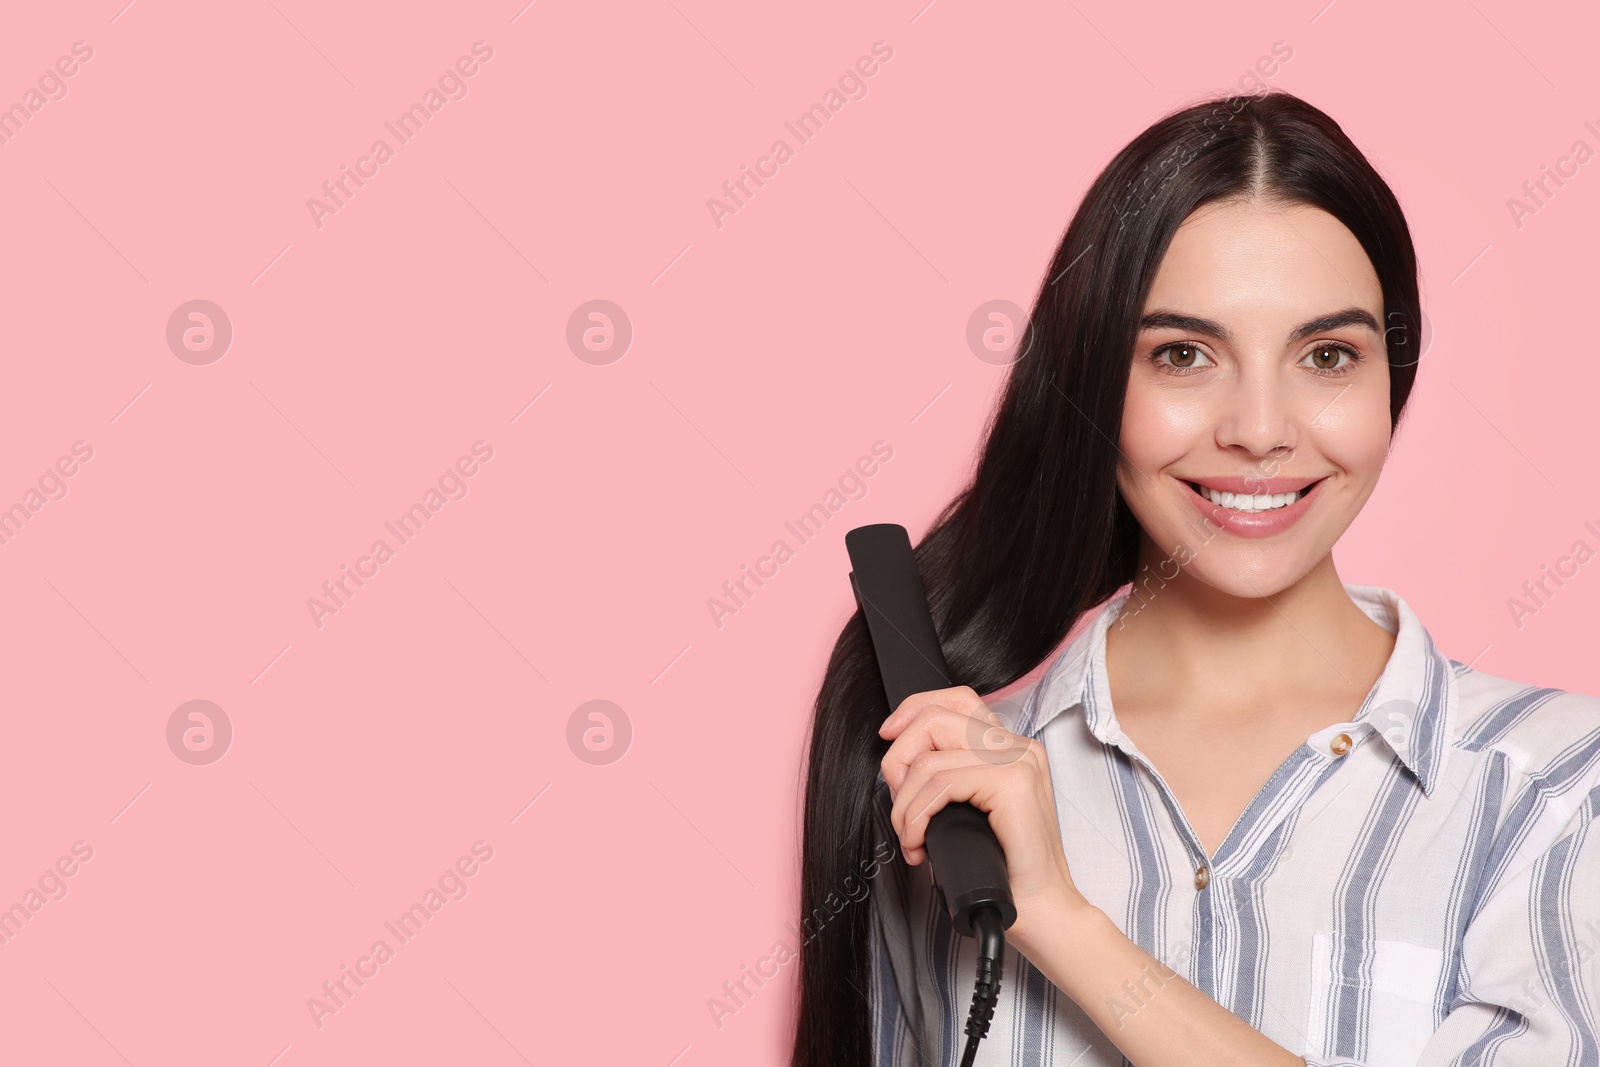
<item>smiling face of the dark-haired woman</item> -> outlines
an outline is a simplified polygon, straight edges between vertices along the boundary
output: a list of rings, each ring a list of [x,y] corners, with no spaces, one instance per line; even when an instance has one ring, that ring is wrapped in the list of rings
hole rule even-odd
[[[1382,290],[1355,235],[1306,205],[1190,214],[1144,306],[1122,421],[1144,561],[1280,592],[1362,510],[1389,432]]]

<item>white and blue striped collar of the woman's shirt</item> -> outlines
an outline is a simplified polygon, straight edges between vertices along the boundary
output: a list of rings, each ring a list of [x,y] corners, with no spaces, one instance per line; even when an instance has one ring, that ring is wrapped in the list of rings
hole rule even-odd
[[[1432,797],[1456,701],[1454,670],[1398,593],[1381,585],[1344,585],[1344,590],[1368,617],[1395,635],[1395,648],[1362,709],[1352,720],[1336,725],[1349,728],[1349,733],[1370,728]],[[1128,589],[1109,600],[1056,656],[1022,710],[1018,734],[1038,737],[1058,715],[1078,712],[1101,742],[1131,745],[1117,725],[1106,680],[1106,632],[1131,592]],[[1318,731],[1314,737],[1328,733]]]

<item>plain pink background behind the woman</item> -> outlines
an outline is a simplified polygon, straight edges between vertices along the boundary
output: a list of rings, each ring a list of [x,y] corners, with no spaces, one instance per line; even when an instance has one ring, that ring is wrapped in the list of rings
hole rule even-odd
[[[0,1061],[778,1062],[794,965],[722,1027],[707,1000],[792,939],[843,534],[922,536],[1005,373],[968,315],[1027,307],[1115,150],[1275,42],[1266,83],[1400,197],[1435,331],[1341,576],[1456,659],[1600,693],[1600,563],[1507,609],[1600,549],[1600,165],[1507,206],[1600,149],[1592,13],[523,2],[8,13],[0,104],[93,59],[0,146],[0,506],[93,459],[0,545],[0,904],[93,859],[0,945]],[[478,40],[467,94],[318,227],[307,198]],[[867,96],[797,146],[784,122],[878,40]],[[718,227],[707,198],[778,138],[794,158]],[[208,365],[166,342],[192,299],[234,330]],[[606,365],[566,341],[594,299],[634,330]],[[784,522],[878,440],[867,496],[797,547]],[[397,547],[384,523],[474,442],[467,494]],[[307,600],[379,537],[318,627]],[[778,539],[795,557],[718,627],[707,600]],[[234,731],[210,765],[168,744],[195,699]],[[568,742],[594,699],[632,729],[610,765]],[[475,841],[467,894],[394,939]],[[318,1027],[307,998],[378,939]]]

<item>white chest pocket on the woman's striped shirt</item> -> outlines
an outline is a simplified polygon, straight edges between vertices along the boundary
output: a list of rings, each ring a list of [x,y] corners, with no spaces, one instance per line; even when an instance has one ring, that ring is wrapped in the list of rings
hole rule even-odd
[[[1434,990],[1443,968],[1440,949],[1315,934],[1304,1054],[1352,1057],[1357,1035],[1365,1032],[1363,1064],[1414,1067],[1434,1037]]]

